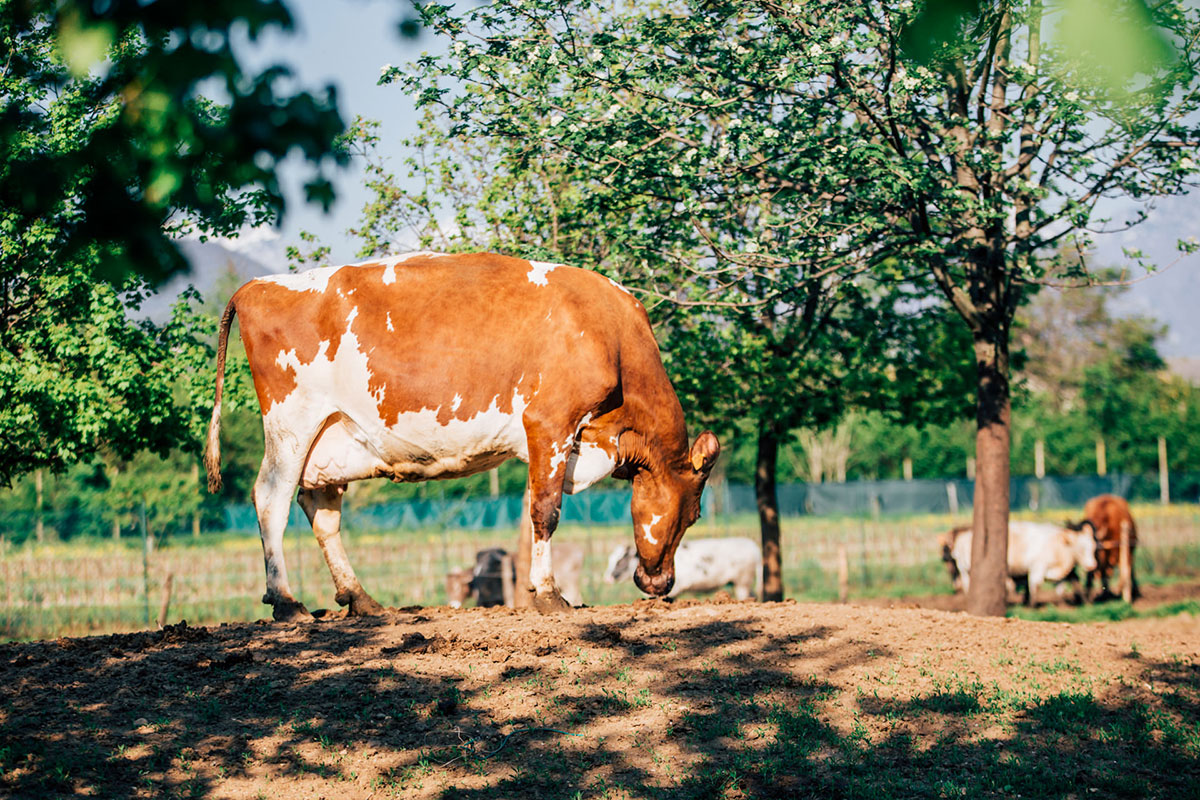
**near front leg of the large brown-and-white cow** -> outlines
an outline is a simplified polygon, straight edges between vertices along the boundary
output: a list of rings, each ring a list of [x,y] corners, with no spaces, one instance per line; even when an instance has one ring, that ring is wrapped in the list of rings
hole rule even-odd
[[[550,555],[550,537],[558,528],[559,510],[563,505],[563,479],[566,475],[566,458],[575,444],[574,435],[559,437],[557,441],[539,437],[536,444],[529,441],[529,521],[533,546],[529,554],[529,583],[533,584],[533,606],[542,614],[566,610],[571,607],[563,600],[554,582],[554,566]]]

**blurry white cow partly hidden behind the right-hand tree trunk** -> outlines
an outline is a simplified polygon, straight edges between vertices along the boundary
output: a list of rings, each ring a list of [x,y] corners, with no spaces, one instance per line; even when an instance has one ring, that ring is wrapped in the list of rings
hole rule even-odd
[[[971,587],[970,530],[954,540],[954,563],[962,581],[962,590]],[[1082,570],[1096,569],[1096,543],[1088,533],[1060,528],[1044,522],[1008,523],[1008,577],[1025,579],[1025,604],[1037,600],[1038,588],[1046,581],[1070,579],[1079,593],[1075,565]]]

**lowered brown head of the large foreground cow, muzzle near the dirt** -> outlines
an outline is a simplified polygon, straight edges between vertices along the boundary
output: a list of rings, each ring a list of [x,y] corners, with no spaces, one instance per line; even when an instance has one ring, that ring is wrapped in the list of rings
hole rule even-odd
[[[700,518],[700,495],[721,445],[704,431],[677,463],[634,475],[634,542],[640,564],[634,583],[662,596],[674,585],[674,552],[683,533]]]

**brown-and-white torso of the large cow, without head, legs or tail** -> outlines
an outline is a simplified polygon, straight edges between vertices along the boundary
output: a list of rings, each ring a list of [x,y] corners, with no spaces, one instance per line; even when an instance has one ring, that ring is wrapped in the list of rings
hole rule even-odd
[[[305,487],[527,459],[530,407],[582,416],[622,381],[674,397],[641,303],[587,270],[418,254],[258,278],[233,303],[264,425],[313,440]]]

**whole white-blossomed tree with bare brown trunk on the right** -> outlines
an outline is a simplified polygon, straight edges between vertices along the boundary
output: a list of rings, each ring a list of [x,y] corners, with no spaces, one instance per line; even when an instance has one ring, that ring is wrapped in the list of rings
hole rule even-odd
[[[456,134],[504,142],[514,163],[570,163],[586,205],[624,215],[613,245],[648,266],[650,296],[772,308],[862,270],[919,296],[936,287],[976,363],[968,608],[998,614],[1013,314],[1064,266],[1060,245],[1086,249],[1104,227],[1103,199],[1145,205],[1190,186],[1200,25],[1181,2],[1060,13],[997,0],[942,19],[947,5],[431,4],[448,55],[385,79]],[[1096,58],[1085,18],[1123,25],[1148,55],[1110,68],[1121,60]],[[1086,265],[1068,275],[1088,281]]]

